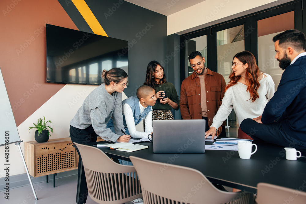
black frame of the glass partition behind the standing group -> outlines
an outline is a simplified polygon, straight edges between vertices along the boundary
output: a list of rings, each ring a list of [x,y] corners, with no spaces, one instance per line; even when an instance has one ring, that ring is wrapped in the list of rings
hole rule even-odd
[[[244,49],[250,51],[258,62],[258,38],[257,38],[257,21],[265,18],[277,16],[283,13],[294,11],[294,28],[305,33],[306,31],[306,9],[303,9],[305,0],[297,0],[281,4],[269,9],[264,9],[255,13],[251,13],[242,17],[225,21],[218,25],[212,25],[196,31],[188,32],[180,35],[180,44],[185,45],[188,39],[207,35],[207,67],[214,72],[217,72],[217,32],[228,28],[233,28],[244,24]],[[249,31],[252,30],[252,31]],[[248,33],[249,32],[249,33]],[[181,83],[188,76],[188,64],[186,61],[187,49],[186,46],[181,47]]]

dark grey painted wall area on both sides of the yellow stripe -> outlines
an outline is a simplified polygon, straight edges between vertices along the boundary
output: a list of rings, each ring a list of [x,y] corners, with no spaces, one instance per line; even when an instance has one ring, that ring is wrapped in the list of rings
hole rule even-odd
[[[92,33],[73,3],[58,2],[80,31]],[[129,87],[124,92],[128,97],[136,95],[145,81],[147,64],[152,60],[164,61],[167,55],[167,17],[125,1],[85,2],[109,37],[129,41]]]

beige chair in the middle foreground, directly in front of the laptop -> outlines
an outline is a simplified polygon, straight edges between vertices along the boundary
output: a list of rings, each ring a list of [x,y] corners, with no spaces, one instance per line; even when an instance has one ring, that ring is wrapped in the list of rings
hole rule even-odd
[[[198,170],[130,156],[138,172],[144,204],[253,203],[253,194],[214,187]]]

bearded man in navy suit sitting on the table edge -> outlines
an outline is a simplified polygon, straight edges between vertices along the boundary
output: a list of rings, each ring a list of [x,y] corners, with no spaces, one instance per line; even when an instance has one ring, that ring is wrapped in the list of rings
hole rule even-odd
[[[274,36],[273,42],[275,58],[285,71],[263,114],[245,119],[240,128],[254,140],[306,149],[305,35],[287,30]]]

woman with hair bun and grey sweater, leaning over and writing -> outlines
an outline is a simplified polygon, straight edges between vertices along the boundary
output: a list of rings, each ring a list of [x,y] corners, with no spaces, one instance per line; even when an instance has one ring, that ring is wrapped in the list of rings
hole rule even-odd
[[[103,70],[104,83],[93,90],[84,100],[82,106],[70,122],[70,137],[72,142],[86,144],[97,141],[97,137],[112,142],[128,142],[130,135],[123,135],[122,91],[126,88],[127,73],[120,68]],[[114,121],[115,132],[106,128],[106,124]],[[78,151],[78,150],[77,150]],[[78,151],[79,155],[80,152]],[[81,157],[80,157],[81,158]],[[77,203],[85,203],[88,195],[84,168],[80,184],[80,196]],[[78,176],[78,188],[79,188]],[[84,177],[84,178],[83,178]]]

